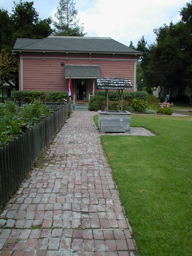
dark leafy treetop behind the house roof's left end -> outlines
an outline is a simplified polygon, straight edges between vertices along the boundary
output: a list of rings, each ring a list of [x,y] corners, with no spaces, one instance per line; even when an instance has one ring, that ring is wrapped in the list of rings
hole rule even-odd
[[[33,1],[13,3],[12,14],[0,9],[0,49],[5,48],[10,52],[17,38],[41,39],[53,32],[50,26],[52,19],[41,20]]]

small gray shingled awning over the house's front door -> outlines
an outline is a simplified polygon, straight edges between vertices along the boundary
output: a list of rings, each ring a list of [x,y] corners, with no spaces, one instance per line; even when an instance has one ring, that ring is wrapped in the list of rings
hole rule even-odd
[[[98,78],[101,76],[98,65],[65,65],[65,78]]]

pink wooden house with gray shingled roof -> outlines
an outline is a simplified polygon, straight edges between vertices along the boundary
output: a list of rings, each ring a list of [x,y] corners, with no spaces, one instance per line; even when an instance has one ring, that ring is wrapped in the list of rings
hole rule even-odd
[[[71,76],[74,100],[89,100],[98,77],[130,78],[136,91],[142,54],[111,38],[73,36],[18,38],[13,53],[19,58],[19,90],[68,91]]]

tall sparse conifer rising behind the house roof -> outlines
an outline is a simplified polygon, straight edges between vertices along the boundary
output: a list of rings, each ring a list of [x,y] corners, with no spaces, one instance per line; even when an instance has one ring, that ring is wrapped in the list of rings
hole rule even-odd
[[[76,18],[78,12],[73,0],[60,0],[55,14],[54,35],[56,36],[84,36],[84,27]]]

